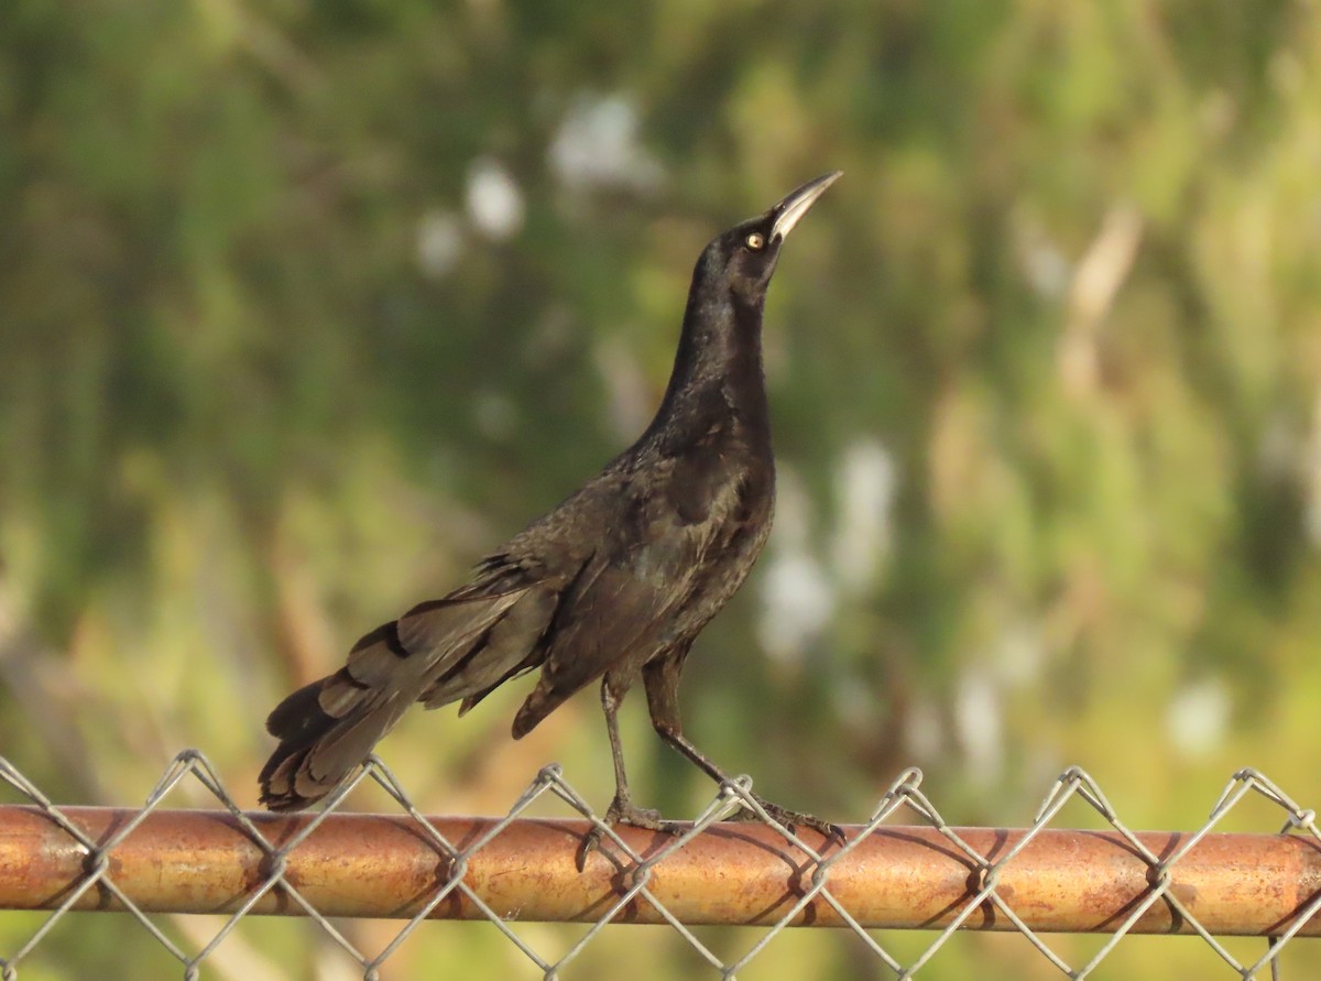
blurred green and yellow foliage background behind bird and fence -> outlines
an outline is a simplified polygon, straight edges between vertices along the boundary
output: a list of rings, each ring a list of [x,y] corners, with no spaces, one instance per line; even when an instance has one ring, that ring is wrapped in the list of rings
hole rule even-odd
[[[910,763],[959,824],[1025,822],[1067,763],[1133,826],[1198,825],[1243,764],[1308,803],[1317,50],[1303,0],[8,0],[0,752],[128,804],[194,744],[252,804],[268,707],[626,444],[701,245],[839,167],[771,290],[779,525],[691,661],[695,739],[841,820]],[[432,810],[551,759],[604,806],[594,698],[514,744],[519,697],[382,752]],[[709,796],[627,727],[643,799]],[[24,977],[168,969],[123,929]],[[697,966],[624,933],[575,976]],[[300,924],[229,943],[329,977]],[[775,949],[748,976],[882,974]],[[382,977],[519,957],[437,925]],[[927,973],[1054,976],[1015,937]]]

